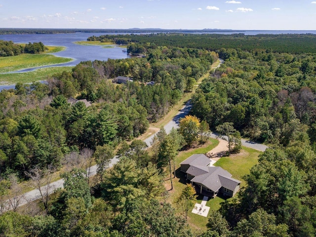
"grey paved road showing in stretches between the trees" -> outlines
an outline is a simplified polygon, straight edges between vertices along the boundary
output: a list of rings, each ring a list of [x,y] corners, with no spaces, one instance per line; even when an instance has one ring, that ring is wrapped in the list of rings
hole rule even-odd
[[[221,61],[221,63],[223,63],[223,60]],[[218,65],[218,67],[220,66],[220,64]],[[171,129],[174,128],[178,128],[179,127],[179,121],[181,118],[184,118],[186,115],[189,114],[190,110],[191,110],[191,103],[190,100],[186,103],[186,105],[184,105],[184,107],[179,111],[179,113],[171,120],[169,121],[165,126],[164,129],[166,130],[166,133],[169,133],[171,131]],[[150,136],[149,138],[145,139],[144,142],[146,142],[146,144],[148,145],[148,147],[151,146],[150,142],[152,141],[153,137],[155,134],[153,134],[152,136]],[[210,134],[211,137],[216,138],[216,134],[215,133],[211,133]],[[250,147],[259,151],[265,151],[267,149],[267,146],[259,144],[259,143],[253,143],[251,141],[242,139],[241,140],[241,144],[245,147]],[[112,167],[114,164],[116,164],[118,162],[118,158],[114,157],[111,162],[109,167]],[[89,172],[89,176],[93,176],[96,174],[96,169],[97,166],[91,166],[87,172]],[[56,182],[53,182],[51,184],[51,187],[49,189],[49,194],[53,193],[54,190],[56,190],[57,188],[63,188],[64,186],[64,180],[60,179]],[[46,187],[43,187],[42,190],[45,190]],[[30,192],[25,193],[24,195],[18,197],[20,199],[20,204],[19,206],[25,205],[26,203],[30,202],[30,201],[34,201],[37,199],[40,199],[40,192],[39,190],[32,190]],[[7,203],[9,203],[9,200],[6,201]],[[8,204],[9,206],[9,204]],[[11,209],[11,208],[9,208]]]

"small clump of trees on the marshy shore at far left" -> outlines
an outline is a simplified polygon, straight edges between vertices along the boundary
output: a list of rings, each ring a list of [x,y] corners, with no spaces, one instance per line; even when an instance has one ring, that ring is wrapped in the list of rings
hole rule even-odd
[[[16,56],[22,53],[40,53],[48,50],[42,42],[29,42],[23,46],[15,44],[13,41],[0,40],[0,57]]]

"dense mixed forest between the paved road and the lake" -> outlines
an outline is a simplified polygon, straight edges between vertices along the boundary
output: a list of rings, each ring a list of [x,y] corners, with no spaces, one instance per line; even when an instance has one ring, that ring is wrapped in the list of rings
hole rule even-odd
[[[191,51],[161,47],[147,58],[81,62],[72,73],[48,78],[48,84],[17,83],[14,90],[1,91],[0,176],[25,178],[34,166],[60,167],[72,151],[138,137],[192,90],[216,57],[207,50]],[[118,76],[134,82],[111,82]],[[149,81],[155,84],[146,85]],[[93,105],[71,105],[71,97]]]

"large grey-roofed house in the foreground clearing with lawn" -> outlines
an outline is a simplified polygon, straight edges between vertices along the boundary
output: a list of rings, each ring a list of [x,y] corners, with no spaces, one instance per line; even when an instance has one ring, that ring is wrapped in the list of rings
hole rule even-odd
[[[219,193],[233,197],[241,181],[219,166],[210,165],[211,160],[204,154],[195,154],[180,163],[180,169],[187,174],[187,180],[195,185],[197,193],[215,197]]]

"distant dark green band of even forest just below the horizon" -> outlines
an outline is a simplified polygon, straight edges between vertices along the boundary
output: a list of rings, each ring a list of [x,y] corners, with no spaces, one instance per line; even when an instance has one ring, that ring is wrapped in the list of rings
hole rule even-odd
[[[106,35],[90,37],[88,40],[124,39],[124,43],[135,42],[141,45],[165,45],[172,47],[200,48],[216,51],[221,48],[234,48],[246,51],[265,51],[270,49],[278,53],[316,53],[316,36],[313,34],[284,34],[284,35],[255,35],[244,34],[185,34],[185,33],[157,33],[157,34],[130,34]]]

